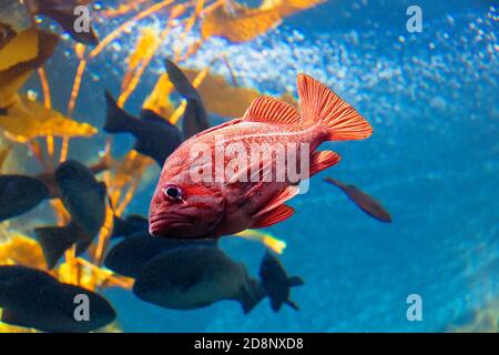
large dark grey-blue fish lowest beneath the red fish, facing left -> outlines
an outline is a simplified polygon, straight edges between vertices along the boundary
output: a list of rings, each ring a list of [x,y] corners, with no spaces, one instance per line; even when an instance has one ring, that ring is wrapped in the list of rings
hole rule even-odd
[[[141,270],[133,293],[172,310],[194,310],[233,300],[241,303],[244,313],[264,296],[246,267],[216,247],[181,247],[160,254]]]

